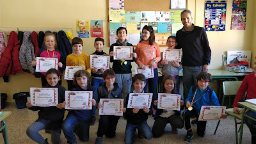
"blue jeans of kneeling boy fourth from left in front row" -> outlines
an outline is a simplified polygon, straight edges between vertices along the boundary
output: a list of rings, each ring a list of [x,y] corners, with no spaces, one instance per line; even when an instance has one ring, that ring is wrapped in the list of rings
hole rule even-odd
[[[136,129],[138,129],[138,131],[140,131],[143,134],[144,138],[146,138],[147,140],[153,138],[152,131],[148,126],[147,121],[143,121],[141,122],[141,124],[138,125],[129,124],[127,122],[125,129],[125,144],[133,143]]]

